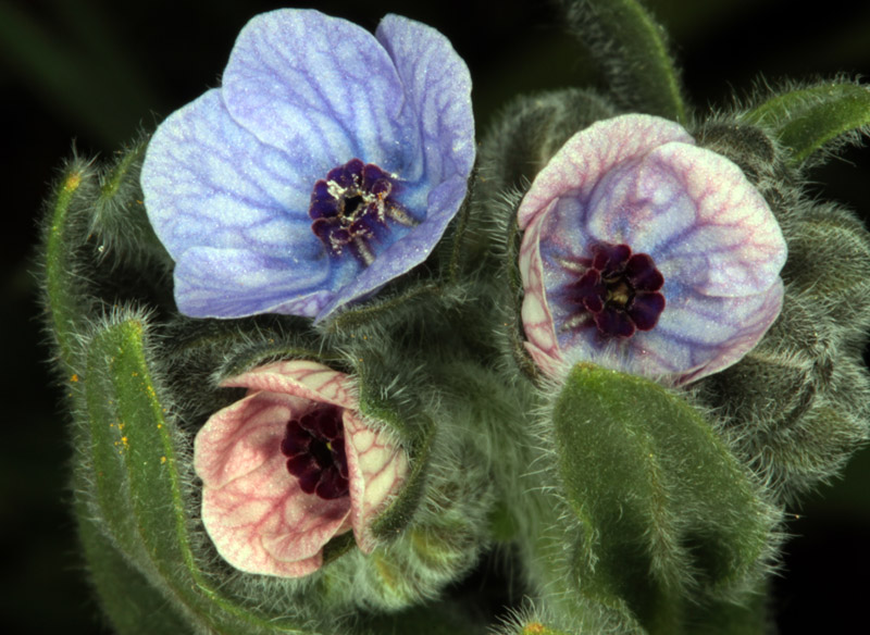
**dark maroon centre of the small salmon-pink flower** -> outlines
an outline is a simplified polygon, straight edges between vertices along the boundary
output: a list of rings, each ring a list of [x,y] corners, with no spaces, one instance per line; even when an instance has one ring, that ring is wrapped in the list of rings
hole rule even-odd
[[[333,499],[347,496],[347,456],[341,409],[323,404],[287,422],[281,441],[287,471],[306,494]]]

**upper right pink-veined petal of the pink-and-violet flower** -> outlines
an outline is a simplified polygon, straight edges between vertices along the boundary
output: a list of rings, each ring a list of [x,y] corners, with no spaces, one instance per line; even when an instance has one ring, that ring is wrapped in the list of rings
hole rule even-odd
[[[588,206],[589,236],[655,253],[667,279],[669,259],[693,258],[688,275],[699,292],[757,294],[785,262],[785,240],[765,199],[739,167],[705,148],[666,144],[618,166]]]

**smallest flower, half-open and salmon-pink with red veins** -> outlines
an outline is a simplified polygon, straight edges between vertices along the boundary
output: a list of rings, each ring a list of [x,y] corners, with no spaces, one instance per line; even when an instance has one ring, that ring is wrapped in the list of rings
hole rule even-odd
[[[408,473],[403,450],[359,413],[347,375],[313,361],[259,366],[221,384],[248,395],[199,431],[194,465],[202,522],[217,552],[249,573],[316,571],[323,546],[371,523]]]

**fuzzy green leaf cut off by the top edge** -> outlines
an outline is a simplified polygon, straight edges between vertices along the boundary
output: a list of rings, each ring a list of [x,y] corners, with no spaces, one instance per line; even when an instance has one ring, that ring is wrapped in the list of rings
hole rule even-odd
[[[664,29],[635,0],[563,0],[570,25],[624,105],[686,123]]]

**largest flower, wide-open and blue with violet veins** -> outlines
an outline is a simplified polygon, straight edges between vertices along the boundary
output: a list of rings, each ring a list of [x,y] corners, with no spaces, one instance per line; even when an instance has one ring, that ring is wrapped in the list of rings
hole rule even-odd
[[[142,166],[179,311],[321,320],[421,263],[465,198],[470,94],[450,42],[411,20],[251,20]]]

